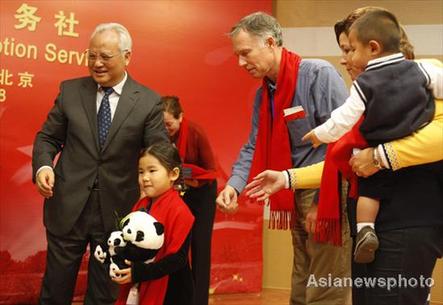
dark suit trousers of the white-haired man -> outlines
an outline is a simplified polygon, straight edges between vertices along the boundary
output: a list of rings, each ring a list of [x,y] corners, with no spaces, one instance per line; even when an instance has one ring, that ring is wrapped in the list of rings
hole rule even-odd
[[[71,305],[77,274],[87,246],[91,252],[105,238],[99,192],[93,191],[71,232],[64,236],[46,231],[46,271],[40,291],[41,305]],[[111,305],[118,285],[111,281],[105,265],[90,255],[85,305]]]

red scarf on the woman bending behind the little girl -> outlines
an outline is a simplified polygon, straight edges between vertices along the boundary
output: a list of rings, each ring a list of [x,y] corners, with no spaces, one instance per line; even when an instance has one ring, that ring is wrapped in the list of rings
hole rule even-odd
[[[190,163],[184,163],[186,158],[186,147],[188,144],[189,125],[188,120],[183,117],[180,123],[180,129],[178,131],[178,137],[176,141],[178,153],[183,161],[183,168],[190,168],[192,171],[192,179],[196,180],[214,180],[217,178],[218,173],[213,170],[207,170],[200,166]]]

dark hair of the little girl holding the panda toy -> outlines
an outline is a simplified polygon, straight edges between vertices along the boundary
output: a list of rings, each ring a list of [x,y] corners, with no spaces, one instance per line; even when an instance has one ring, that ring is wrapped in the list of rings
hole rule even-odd
[[[180,170],[180,176],[175,181],[175,184],[182,183],[182,161],[178,150],[174,145],[168,142],[158,142],[152,144],[148,148],[143,148],[140,151],[139,159],[147,155],[154,156],[168,171],[172,171],[177,167]]]

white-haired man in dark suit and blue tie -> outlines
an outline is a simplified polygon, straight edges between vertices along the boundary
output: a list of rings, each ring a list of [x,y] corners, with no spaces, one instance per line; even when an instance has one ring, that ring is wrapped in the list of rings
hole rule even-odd
[[[88,244],[93,251],[115,229],[114,213],[126,215],[139,198],[140,149],[168,141],[159,96],[126,73],[131,47],[122,25],[97,26],[88,50],[91,76],[61,83],[36,135],[33,178],[46,198],[48,242],[40,304],[71,304]],[[84,304],[113,304],[116,294],[91,255]]]

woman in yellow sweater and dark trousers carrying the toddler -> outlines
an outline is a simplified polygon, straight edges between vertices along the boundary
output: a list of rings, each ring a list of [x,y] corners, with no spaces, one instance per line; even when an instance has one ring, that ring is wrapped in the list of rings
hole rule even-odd
[[[378,7],[362,7],[354,10],[351,12],[346,18],[336,23],[334,30],[337,38],[337,42],[340,46],[340,49],[342,50],[342,59],[341,64],[346,67],[346,70],[349,72],[349,75],[352,80],[354,80],[362,71],[352,64],[352,60],[350,58],[350,55],[352,53],[350,52],[349,47],[349,28],[352,26],[352,24],[360,18],[361,16],[365,15],[367,12],[371,12],[374,10],[385,10],[383,8]],[[413,46],[410,44],[406,34],[403,32],[402,39],[400,41],[400,50],[405,55],[407,59],[414,59],[415,55],[413,53]],[[439,69],[443,68],[442,63],[439,60],[436,59],[418,59],[417,62],[423,62],[428,64],[433,64],[435,67],[438,67]],[[441,80],[440,80],[441,83]],[[380,156],[379,160],[376,160],[376,162],[380,162],[380,166],[376,166],[374,164],[374,154],[373,151],[377,150],[378,155]],[[435,100],[435,114],[433,121],[431,121],[428,125],[423,127],[422,129],[418,130],[416,133],[414,133],[411,136],[407,136],[405,138],[395,140],[392,142],[380,144],[376,147],[366,148],[362,151],[360,151],[358,154],[353,156],[350,160],[350,165],[352,166],[352,169],[354,172],[356,172],[361,177],[368,177],[373,175],[374,173],[377,173],[381,170],[392,170],[394,172],[398,173],[404,173],[407,167],[415,166],[415,165],[421,165],[421,164],[427,164],[432,162],[441,161],[443,159],[443,100],[436,99]],[[432,165],[433,166],[433,165]],[[435,169],[434,169],[435,170]],[[437,168],[437,178],[431,179],[431,184],[435,183],[436,181],[440,184],[440,190],[443,189],[443,172],[440,169]],[[435,172],[435,171],[434,171]],[[407,178],[404,178],[407,179]],[[402,180],[405,181],[405,180]],[[420,182],[419,178],[414,179],[414,181]],[[404,183],[404,182],[403,182]],[[423,208],[429,208],[432,206],[432,201],[429,202],[426,207],[419,207],[413,206],[412,202],[415,202],[417,204],[418,201],[420,202],[426,202],[426,199],[413,199],[413,197],[410,197],[412,194],[414,194],[415,191],[417,191],[416,188],[412,184],[410,184],[410,189],[407,189],[405,192],[405,198],[407,200],[405,201],[406,205],[399,208],[399,211],[403,211],[404,209],[409,209],[411,213],[416,213],[416,218],[412,220],[412,214],[410,215],[411,221],[409,223],[404,222],[403,224],[393,223],[392,226],[400,227],[401,230],[389,230],[390,232],[383,233],[384,236],[386,236],[386,240],[389,240],[391,238],[388,234],[400,234],[403,236],[399,239],[401,240],[403,238],[407,238],[411,241],[411,252],[409,252],[409,249],[405,249],[404,247],[398,247],[398,255],[403,260],[403,257],[405,258],[405,264],[403,265],[404,270],[400,271],[401,274],[411,274],[411,272],[414,272],[412,267],[416,266],[416,261],[420,260],[423,261],[424,264],[421,264],[420,266],[416,266],[418,269],[418,272],[426,272],[427,274],[432,273],[432,269],[435,265],[435,257],[442,255],[442,241],[441,241],[441,233],[438,233],[439,227],[441,228],[441,225],[435,225],[435,217],[439,217],[439,213],[441,213],[440,209],[430,209],[428,215],[425,215],[425,211],[422,211]],[[432,186],[429,185],[429,187],[432,189]],[[398,196],[398,194],[397,194]],[[438,198],[433,198],[437,199]],[[398,200],[398,199],[397,199]],[[394,204],[399,205],[399,201],[394,200]],[[440,199],[441,200],[441,199]],[[388,203],[393,204],[393,203]],[[352,207],[352,205],[350,205]],[[399,205],[400,207],[400,205]],[[432,215],[432,212],[436,213],[435,215]],[[389,219],[386,217],[393,217],[393,211],[387,211],[384,209],[382,217],[378,217],[379,223],[384,223],[385,220]],[[350,213],[353,214],[352,211]],[[405,215],[403,215],[405,216]],[[440,218],[441,219],[441,218]],[[355,220],[350,219],[351,223],[353,223]],[[376,222],[377,223],[377,222]],[[418,223],[421,223],[420,226],[417,226],[417,228],[413,228],[413,226],[416,226]],[[433,224],[434,223],[434,224]],[[353,226],[352,226],[353,227]],[[424,233],[426,235],[426,238],[423,240],[420,240],[419,232],[415,232],[415,230],[420,231],[426,231],[430,233],[430,235],[426,235],[427,233]],[[441,230],[441,229],[440,229]],[[354,231],[354,230],[352,230]],[[437,232],[435,235],[434,232]],[[424,236],[425,236],[424,235]],[[439,241],[440,236],[440,241]],[[419,243],[418,245],[414,246],[414,244]],[[389,246],[389,245],[388,245]],[[397,245],[393,245],[392,248],[396,248]],[[426,253],[425,251],[421,251],[420,253],[415,252],[415,247],[419,247],[423,249],[423,247],[432,247],[435,251]],[[388,252],[389,248],[384,247]],[[376,260],[378,257],[380,258],[379,262],[374,262],[373,264],[369,265],[359,265],[353,266],[355,270],[353,270],[353,278],[362,277],[362,276],[368,276],[368,271],[373,272],[374,267],[376,265],[381,266],[383,264],[383,261],[386,261],[387,256],[386,253],[383,253],[382,255],[376,256]],[[410,255],[409,255],[410,253]],[[408,255],[405,255],[408,254]],[[409,263],[410,262],[410,263]],[[361,268],[364,267],[364,268]],[[399,266],[395,266],[396,269],[400,269]],[[417,270],[415,270],[417,272]],[[409,289],[406,289],[409,288]],[[381,297],[387,298],[387,295],[391,295],[393,300],[385,301],[386,304],[398,304],[400,302],[401,304],[424,304],[426,303],[423,300],[429,299],[429,287],[416,287],[416,289],[412,289],[413,287],[403,287],[402,289],[395,288],[394,292],[386,291],[385,289],[380,289],[380,291],[374,291],[374,290],[367,290],[367,289],[353,289],[353,299],[355,304],[362,304],[362,305],[370,305],[375,304],[376,302],[380,302],[380,304],[383,301],[374,299],[374,292],[377,294],[380,294]],[[399,301],[400,300],[400,301]],[[392,303],[391,303],[392,301]]]

